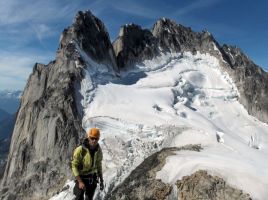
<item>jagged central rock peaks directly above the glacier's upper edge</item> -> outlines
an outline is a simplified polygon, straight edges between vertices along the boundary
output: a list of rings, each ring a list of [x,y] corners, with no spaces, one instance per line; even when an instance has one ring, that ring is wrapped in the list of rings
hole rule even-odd
[[[214,46],[219,45],[209,32],[194,32],[166,18],[159,19],[152,31],[135,24],[122,26],[113,42],[119,68],[152,59],[161,53],[213,53]]]

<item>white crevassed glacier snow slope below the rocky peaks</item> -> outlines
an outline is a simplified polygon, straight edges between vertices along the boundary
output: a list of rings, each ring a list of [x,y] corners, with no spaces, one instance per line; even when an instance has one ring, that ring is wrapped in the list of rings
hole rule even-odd
[[[90,97],[83,102],[83,126],[102,133],[106,188],[96,197],[161,148],[201,144],[202,152],[168,157],[157,178],[173,184],[205,169],[254,199],[266,198],[268,125],[248,115],[215,57],[163,54],[121,74],[93,88],[87,77],[81,88],[84,99]],[[72,199],[73,182],[68,184],[69,189],[52,199]]]

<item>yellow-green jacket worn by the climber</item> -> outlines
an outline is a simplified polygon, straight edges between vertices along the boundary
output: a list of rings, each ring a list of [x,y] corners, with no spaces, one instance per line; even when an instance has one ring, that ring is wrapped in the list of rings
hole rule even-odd
[[[75,177],[91,173],[97,173],[99,176],[102,176],[102,150],[99,145],[96,148],[94,160],[92,160],[87,146],[80,145],[74,150],[72,171]]]

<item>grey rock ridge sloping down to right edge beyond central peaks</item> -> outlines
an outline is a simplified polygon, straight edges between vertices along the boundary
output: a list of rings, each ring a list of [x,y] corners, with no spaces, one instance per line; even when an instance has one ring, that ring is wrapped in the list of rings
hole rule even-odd
[[[250,60],[241,49],[223,45],[220,49],[224,70],[231,76],[240,94],[239,101],[250,115],[268,123],[268,73]]]

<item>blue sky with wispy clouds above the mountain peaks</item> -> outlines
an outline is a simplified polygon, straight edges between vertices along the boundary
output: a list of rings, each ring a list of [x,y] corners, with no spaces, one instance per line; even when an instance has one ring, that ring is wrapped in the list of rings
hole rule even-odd
[[[268,71],[267,8],[265,0],[1,0],[0,90],[22,90],[34,63],[54,60],[60,34],[78,10],[100,18],[111,40],[121,25],[151,29],[161,17],[194,31],[207,29]]]

